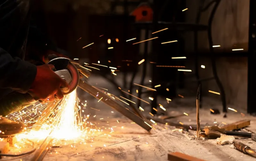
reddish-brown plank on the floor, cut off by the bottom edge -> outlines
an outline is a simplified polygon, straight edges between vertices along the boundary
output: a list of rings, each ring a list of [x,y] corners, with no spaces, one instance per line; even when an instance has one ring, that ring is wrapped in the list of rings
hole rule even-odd
[[[168,160],[169,161],[205,161],[205,160],[198,159],[196,157],[192,157],[177,151],[174,153],[169,153]]]

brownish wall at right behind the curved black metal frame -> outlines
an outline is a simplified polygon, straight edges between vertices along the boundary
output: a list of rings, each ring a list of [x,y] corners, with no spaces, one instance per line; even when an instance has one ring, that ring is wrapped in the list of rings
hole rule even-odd
[[[206,0],[209,2],[209,0]],[[199,0],[187,0],[187,21],[195,22],[196,10]],[[207,24],[209,11],[201,19],[201,23]],[[221,0],[212,22],[212,38],[214,45],[220,45],[220,50],[232,49],[248,50],[249,32],[249,0]],[[187,50],[193,48],[193,34],[186,35]],[[199,49],[208,50],[207,33],[199,33]],[[187,67],[193,66],[187,61]],[[199,61],[201,78],[212,76],[212,68],[209,58],[202,57]],[[239,108],[247,108],[247,58],[246,57],[221,57],[217,58],[217,72],[222,82],[228,104]],[[209,93],[208,90],[220,92],[215,81],[203,83],[204,95],[220,98],[219,95]]]

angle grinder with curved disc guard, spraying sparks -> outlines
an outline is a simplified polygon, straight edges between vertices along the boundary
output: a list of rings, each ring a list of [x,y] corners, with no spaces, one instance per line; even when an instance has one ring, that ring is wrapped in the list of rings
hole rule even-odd
[[[90,73],[81,67],[80,64],[68,59],[68,58],[54,58],[47,64],[54,65],[53,71],[64,79],[69,84],[69,90],[61,88],[64,95],[67,95],[74,91],[80,79],[80,73],[90,76]],[[10,113],[20,111],[29,105],[35,104],[37,101],[28,93],[22,94],[19,92],[12,92],[1,99],[0,114],[6,116]]]

